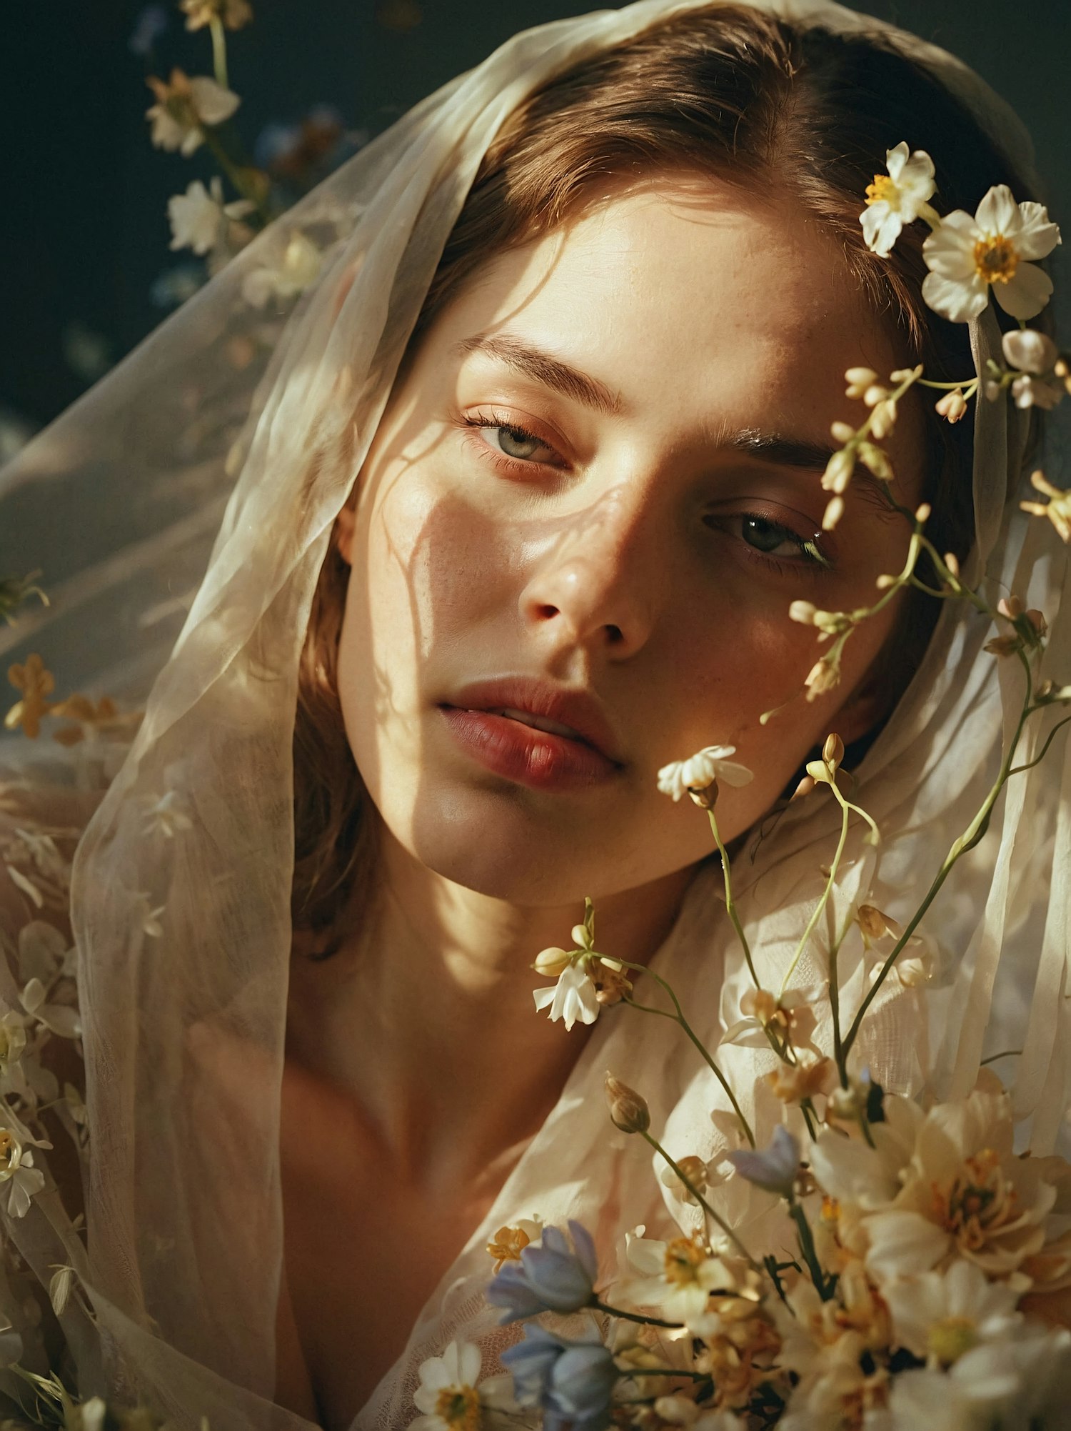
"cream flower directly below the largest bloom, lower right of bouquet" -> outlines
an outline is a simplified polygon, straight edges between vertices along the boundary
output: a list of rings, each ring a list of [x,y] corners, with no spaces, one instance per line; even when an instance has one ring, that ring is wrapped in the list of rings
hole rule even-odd
[[[882,1295],[897,1342],[931,1367],[951,1367],[981,1342],[1008,1337],[1021,1322],[1018,1291],[991,1282],[974,1262],[889,1282]]]

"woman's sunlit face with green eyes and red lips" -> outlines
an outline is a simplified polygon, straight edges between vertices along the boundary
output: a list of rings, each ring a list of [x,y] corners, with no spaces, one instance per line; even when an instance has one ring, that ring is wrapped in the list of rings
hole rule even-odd
[[[519,904],[605,896],[712,847],[661,766],[736,747],[755,778],[722,788],[729,840],[829,731],[861,736],[895,602],[836,690],[759,716],[821,654],[789,602],[869,605],[902,562],[905,522],[858,481],[816,535],[844,372],[902,361],[828,238],[709,183],[488,263],[396,385],[343,528],[339,694],[395,839]],[[905,414],[902,502],[919,452]]]

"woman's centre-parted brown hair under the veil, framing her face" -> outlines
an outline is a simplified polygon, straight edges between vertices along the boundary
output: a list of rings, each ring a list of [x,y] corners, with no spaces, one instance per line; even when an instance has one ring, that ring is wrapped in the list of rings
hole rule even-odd
[[[974,210],[995,183],[1022,196],[1021,179],[978,122],[884,36],[796,30],[735,4],[659,21],[562,73],[509,116],[446,243],[413,343],[490,256],[561,225],[608,179],[685,172],[795,197],[801,216],[839,243],[879,321],[897,329],[904,362],[925,362],[934,378],[969,373],[967,325],[922,303],[922,226],[904,232],[891,259],[875,258],[862,239],[867,185],[901,140],[932,155],[945,210]],[[929,529],[941,550],[962,557],[972,541],[971,425],[949,426],[927,411]],[[319,936],[330,933],[373,853],[335,687],[347,577],[332,542],[295,728],[295,926]],[[901,685],[932,620],[925,604],[905,614]]]

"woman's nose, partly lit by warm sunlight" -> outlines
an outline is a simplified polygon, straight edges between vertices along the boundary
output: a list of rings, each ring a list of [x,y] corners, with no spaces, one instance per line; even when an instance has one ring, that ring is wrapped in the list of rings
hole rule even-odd
[[[632,655],[653,625],[662,585],[655,565],[651,514],[616,488],[542,550],[520,594],[520,617],[562,644]]]

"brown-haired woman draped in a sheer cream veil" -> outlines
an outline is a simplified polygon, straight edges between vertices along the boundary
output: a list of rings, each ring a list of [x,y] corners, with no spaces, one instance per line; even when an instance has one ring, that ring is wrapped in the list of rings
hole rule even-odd
[[[1001,182],[1037,193],[998,102],[948,56],[877,33],[835,6],[782,23],[648,0],[518,36],[293,212],[305,235],[346,238],[285,333],[240,302],[286,243],[269,235],[86,419],[102,465],[123,445],[173,465],[170,418],[130,436],[160,375],[190,461],[149,499],[196,515],[166,562],[142,548],[83,581],[83,631],[99,591],[129,602],[132,570],[192,565],[220,479],[203,454],[230,446],[240,472],[74,869],[89,1259],[47,1192],[14,1231],[34,1266],[77,1268],[113,1387],[130,1378],[177,1424],[408,1424],[425,1357],[455,1335],[489,1358],[510,1339],[482,1292],[485,1246],[518,1218],[582,1216],[609,1275],[621,1234],[666,1215],[606,1128],[608,1065],[671,1148],[706,1161],[732,1143],[662,1020],[615,1010],[582,1047],[530,1010],[532,957],[591,894],[601,947],[656,959],[708,1042],[736,1020],[709,830],[659,796],[661,766],[726,744],[754,773],[718,816],[771,980],[832,819],[812,800],[764,817],[831,730],[857,758],[872,743],[861,798],[887,833],[879,866],[852,834],[844,897],[892,914],[992,778],[985,633],[928,602],[891,604],[838,687],[759,718],[815,660],[789,602],[867,604],[907,548],[864,482],[822,534],[845,369],[922,359],[959,379],[1000,351],[992,306],[969,333],[925,308],[921,240],[867,250],[867,185],[907,139],[934,155],[945,207]],[[1044,535],[1020,558],[1002,512],[1022,434],[997,404],[978,422],[972,444],[905,405],[895,494],[932,504],[967,572],[988,561],[1007,580]],[[1064,644],[1054,630],[1054,658]],[[939,934],[969,953],[938,1016],[948,1086],[984,1052],[994,939],[1044,890],[1051,847],[1022,879],[1051,813],[1038,791],[1015,787],[945,894]],[[978,887],[997,892],[984,909]],[[861,989],[862,956],[842,975]],[[808,954],[794,983],[822,977]],[[924,1029],[921,995],[889,989],[859,1063],[918,1090]],[[1064,1102],[1062,1043],[1044,1033],[1021,1095],[1038,1145]],[[762,1141],[781,1119],[764,1055],[724,1052]],[[1050,1105],[1030,1090],[1047,1078]],[[92,1385],[74,1304],[64,1331]]]

